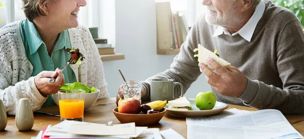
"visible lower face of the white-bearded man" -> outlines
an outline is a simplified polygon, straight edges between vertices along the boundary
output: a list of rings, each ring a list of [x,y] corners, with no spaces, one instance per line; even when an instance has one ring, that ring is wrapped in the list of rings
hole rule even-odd
[[[206,6],[206,22],[222,27],[236,27],[244,19],[237,0],[203,0]]]

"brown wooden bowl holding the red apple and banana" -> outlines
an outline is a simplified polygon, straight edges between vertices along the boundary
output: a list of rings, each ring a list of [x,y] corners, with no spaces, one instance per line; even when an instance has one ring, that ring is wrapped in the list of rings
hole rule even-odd
[[[118,108],[113,109],[113,113],[121,123],[135,122],[135,126],[149,126],[157,124],[165,115],[166,109],[154,114],[126,114],[119,113]]]

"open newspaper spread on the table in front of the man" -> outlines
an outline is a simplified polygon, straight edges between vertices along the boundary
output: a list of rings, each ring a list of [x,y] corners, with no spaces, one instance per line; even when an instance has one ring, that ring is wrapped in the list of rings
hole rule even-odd
[[[225,117],[186,118],[187,138],[304,138],[274,109]]]

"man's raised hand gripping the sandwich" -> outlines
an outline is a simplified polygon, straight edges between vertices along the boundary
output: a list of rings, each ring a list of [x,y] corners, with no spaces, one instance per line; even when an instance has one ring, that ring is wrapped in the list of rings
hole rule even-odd
[[[247,77],[236,67],[224,68],[212,58],[208,58],[208,64],[212,66],[216,74],[204,63],[199,63],[201,70],[206,75],[207,82],[221,95],[228,97],[240,97],[247,87]]]

